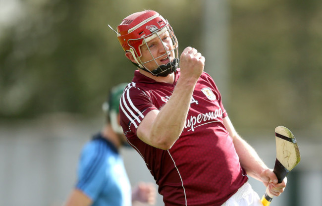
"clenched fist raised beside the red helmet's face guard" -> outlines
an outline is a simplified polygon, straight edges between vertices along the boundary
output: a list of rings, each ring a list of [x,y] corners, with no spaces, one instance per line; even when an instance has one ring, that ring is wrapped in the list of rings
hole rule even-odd
[[[205,57],[196,49],[187,47],[180,56],[181,77],[198,80],[204,71]]]

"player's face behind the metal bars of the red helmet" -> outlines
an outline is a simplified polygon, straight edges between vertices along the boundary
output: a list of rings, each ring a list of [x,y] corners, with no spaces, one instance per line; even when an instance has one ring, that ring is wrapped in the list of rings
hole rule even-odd
[[[168,31],[162,33],[159,37],[156,37],[147,44],[141,46],[141,62],[144,63],[150,71],[159,67],[159,65],[167,64],[170,61],[173,61],[174,51],[171,51],[173,48],[172,39]],[[168,54],[168,55],[167,55]],[[153,57],[156,61],[153,59]]]

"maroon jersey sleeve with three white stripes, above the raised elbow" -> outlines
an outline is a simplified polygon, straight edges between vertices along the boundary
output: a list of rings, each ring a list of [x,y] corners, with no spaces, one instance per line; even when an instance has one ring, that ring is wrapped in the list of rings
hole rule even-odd
[[[149,95],[142,89],[136,87],[135,83],[129,84],[120,99],[119,113],[120,124],[125,135],[136,135],[141,121],[147,113],[158,108],[153,104]]]

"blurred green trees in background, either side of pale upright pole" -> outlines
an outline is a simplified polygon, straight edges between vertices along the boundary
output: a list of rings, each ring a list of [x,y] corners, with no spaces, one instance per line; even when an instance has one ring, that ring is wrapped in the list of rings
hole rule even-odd
[[[132,79],[114,29],[136,11],[168,19],[181,51],[203,51],[205,0],[0,0],[0,119],[54,112],[95,117]],[[320,129],[322,4],[230,0],[229,102],[236,127]],[[216,65],[207,65],[208,71]],[[214,77],[215,81],[217,78]],[[220,88],[219,88],[220,90]]]

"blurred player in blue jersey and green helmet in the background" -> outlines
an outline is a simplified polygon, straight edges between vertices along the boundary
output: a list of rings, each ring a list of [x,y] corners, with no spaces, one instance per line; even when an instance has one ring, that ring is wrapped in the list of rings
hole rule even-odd
[[[78,179],[65,206],[131,206],[141,202],[154,205],[153,183],[139,183],[131,192],[119,148],[127,145],[119,125],[119,100],[127,84],[113,87],[103,104],[106,124],[82,149]]]

